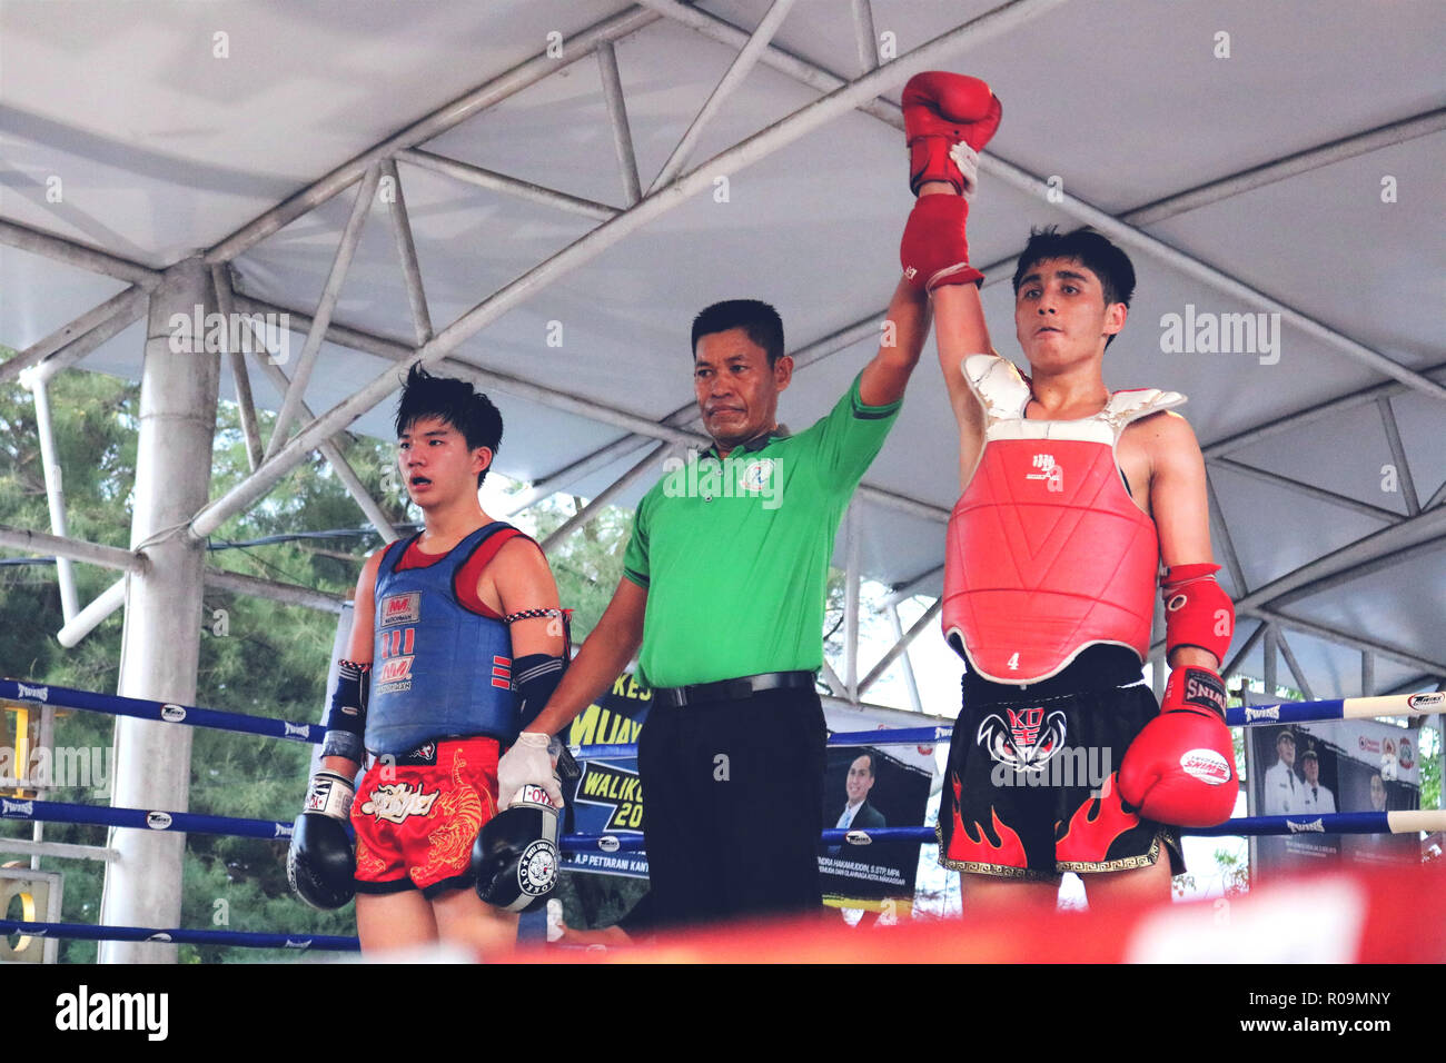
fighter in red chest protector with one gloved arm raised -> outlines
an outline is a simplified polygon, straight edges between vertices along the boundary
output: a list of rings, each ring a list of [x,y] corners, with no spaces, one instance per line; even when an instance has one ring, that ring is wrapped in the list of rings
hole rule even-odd
[[[1031,236],[1015,273],[1030,375],[992,351],[964,237],[977,150],[1001,108],[977,78],[923,74],[904,91],[911,187],[905,278],[934,299],[960,430],[943,625],[967,661],[940,810],[940,859],[964,902],[1090,872],[1092,902],[1168,895],[1171,826],[1223,821],[1238,780],[1216,670],[1233,629],[1215,583],[1205,466],[1184,396],[1109,392],[1105,347],[1134,291],[1098,233]],[[1164,707],[1141,678],[1157,576],[1173,668]],[[1060,772],[1067,751],[1076,768]],[[1116,771],[1118,769],[1118,771]]]

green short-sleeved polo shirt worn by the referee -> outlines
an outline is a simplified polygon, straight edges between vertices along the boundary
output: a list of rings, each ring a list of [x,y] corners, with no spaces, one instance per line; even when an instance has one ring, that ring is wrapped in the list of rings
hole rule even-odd
[[[849,393],[798,435],[672,458],[638,505],[623,576],[648,589],[649,686],[818,671],[829,558],[849,496],[901,402]]]

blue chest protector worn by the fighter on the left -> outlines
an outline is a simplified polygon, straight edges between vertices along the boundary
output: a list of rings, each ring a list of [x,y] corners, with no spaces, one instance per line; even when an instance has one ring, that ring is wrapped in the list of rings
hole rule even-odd
[[[373,754],[405,754],[451,735],[516,739],[508,625],[464,606],[454,586],[483,542],[510,526],[479,528],[425,568],[396,570],[415,537],[386,548],[376,573],[366,719]]]

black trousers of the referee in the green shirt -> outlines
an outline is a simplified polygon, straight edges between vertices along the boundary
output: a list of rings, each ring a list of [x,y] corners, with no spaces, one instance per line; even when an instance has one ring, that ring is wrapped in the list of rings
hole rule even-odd
[[[820,911],[826,740],[811,690],[654,704],[638,774],[659,928]]]

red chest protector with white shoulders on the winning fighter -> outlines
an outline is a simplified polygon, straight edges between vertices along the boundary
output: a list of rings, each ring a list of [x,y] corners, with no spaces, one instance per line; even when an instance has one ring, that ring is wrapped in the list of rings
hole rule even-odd
[[[944,552],[944,638],[995,683],[1038,683],[1089,645],[1150,652],[1160,541],[1115,464],[1125,427],[1184,402],[1115,392],[1095,417],[1027,421],[1030,385],[993,354],[964,359],[985,447]]]

